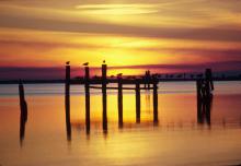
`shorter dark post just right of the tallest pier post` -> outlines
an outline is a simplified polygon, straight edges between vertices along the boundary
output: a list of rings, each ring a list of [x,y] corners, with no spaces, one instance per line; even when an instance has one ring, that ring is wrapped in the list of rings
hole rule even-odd
[[[123,127],[123,83],[122,75],[118,78],[118,126]]]

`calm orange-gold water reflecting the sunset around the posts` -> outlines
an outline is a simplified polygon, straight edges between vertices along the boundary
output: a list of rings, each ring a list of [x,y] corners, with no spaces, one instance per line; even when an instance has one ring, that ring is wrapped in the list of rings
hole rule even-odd
[[[135,93],[124,91],[123,129],[117,122],[117,92],[110,91],[107,133],[102,130],[101,92],[93,90],[87,134],[83,86],[72,86],[68,140],[64,85],[25,85],[28,119],[21,142],[18,85],[0,85],[0,165],[241,164],[241,82],[216,82],[215,87],[210,119],[198,122],[194,82],[159,84],[158,126],[152,122],[151,92],[141,92],[137,124]]]

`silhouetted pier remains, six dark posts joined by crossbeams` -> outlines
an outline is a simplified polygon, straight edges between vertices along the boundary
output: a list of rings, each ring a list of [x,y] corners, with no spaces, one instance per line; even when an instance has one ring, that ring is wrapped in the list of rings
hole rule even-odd
[[[150,72],[147,72],[145,78],[135,78],[135,79],[124,79],[122,73],[117,78],[107,78],[107,64],[103,62],[102,64],[102,76],[100,78],[90,78],[90,69],[87,63],[84,66],[84,79],[81,80],[71,80],[70,79],[70,64],[66,64],[66,121],[68,126],[68,119],[70,115],[70,85],[73,84],[84,84],[85,92],[85,129],[87,133],[90,132],[90,90],[100,88],[102,90],[102,127],[104,132],[107,131],[107,90],[117,90],[118,95],[118,126],[123,127],[123,90],[129,90],[136,92],[136,122],[140,122],[140,91],[141,90],[152,90],[153,92],[153,123],[158,123],[158,79],[154,75],[150,75]],[[110,83],[115,83],[116,87],[107,86]],[[125,87],[125,85],[134,85],[134,87]],[[70,131],[71,132],[71,131]]]

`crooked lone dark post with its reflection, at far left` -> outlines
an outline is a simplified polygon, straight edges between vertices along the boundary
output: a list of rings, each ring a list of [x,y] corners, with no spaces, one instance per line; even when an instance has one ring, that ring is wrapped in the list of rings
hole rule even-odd
[[[27,104],[24,97],[24,87],[22,82],[19,83],[19,95],[20,95],[20,143],[22,144],[25,134],[25,123],[27,121]]]

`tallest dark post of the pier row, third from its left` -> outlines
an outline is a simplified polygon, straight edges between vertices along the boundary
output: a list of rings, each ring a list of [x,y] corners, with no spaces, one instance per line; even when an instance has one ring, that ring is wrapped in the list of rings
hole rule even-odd
[[[107,131],[107,96],[106,96],[106,71],[107,66],[102,64],[102,104],[103,104],[103,130]]]

